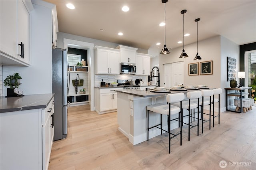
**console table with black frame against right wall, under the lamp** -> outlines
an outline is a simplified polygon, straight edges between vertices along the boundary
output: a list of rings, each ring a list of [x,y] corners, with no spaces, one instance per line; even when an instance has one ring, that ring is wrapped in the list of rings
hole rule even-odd
[[[236,88],[225,88],[226,90],[226,111],[231,111],[231,112],[237,112],[237,113],[242,113],[242,98],[245,95],[249,95],[248,92],[244,92],[246,89],[251,89],[252,87],[236,87]],[[228,93],[228,91],[236,91],[235,93]],[[235,97],[240,97],[240,111],[228,109],[228,96],[235,96]],[[250,91],[250,96],[252,96],[252,91]]]

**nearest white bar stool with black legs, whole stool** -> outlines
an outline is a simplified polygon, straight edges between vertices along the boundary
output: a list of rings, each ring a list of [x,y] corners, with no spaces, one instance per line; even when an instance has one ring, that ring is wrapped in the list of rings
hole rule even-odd
[[[162,128],[162,115],[167,115],[168,116],[168,130],[164,130],[165,132],[168,132],[169,133],[169,154],[170,154],[170,140],[176,136],[178,136],[180,134],[180,145],[182,145],[182,126],[179,125],[180,127],[180,132],[178,132],[177,134],[173,134],[171,133],[171,121],[178,121],[179,124],[180,124],[180,118],[182,117],[182,111],[180,109],[180,107],[182,107],[182,100],[185,98],[185,95],[184,93],[174,93],[174,94],[168,94],[166,96],[166,100],[167,100],[167,103],[168,104],[163,104],[163,103],[159,103],[159,104],[155,104],[155,105],[149,105],[146,107],[147,109],[147,116],[148,116],[148,132],[149,132],[149,129],[151,128],[159,128],[158,126],[161,125],[161,134],[162,134],[162,130],[164,130]],[[179,102],[180,103],[180,107],[177,107],[177,106],[173,106],[171,105],[171,103],[174,103],[174,102]],[[149,127],[149,111],[151,112],[155,112],[155,113],[158,113],[161,115],[161,123],[158,124],[158,125],[155,125],[153,127]],[[175,119],[171,119],[171,115],[175,115],[178,113],[178,118],[175,118]],[[178,120],[177,120],[178,119]],[[173,135],[172,137],[170,135]]]

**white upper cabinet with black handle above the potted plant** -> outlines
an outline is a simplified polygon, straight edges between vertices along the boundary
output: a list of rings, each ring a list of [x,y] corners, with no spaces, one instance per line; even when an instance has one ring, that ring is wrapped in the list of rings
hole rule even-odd
[[[1,64],[30,65],[31,1],[0,1]]]

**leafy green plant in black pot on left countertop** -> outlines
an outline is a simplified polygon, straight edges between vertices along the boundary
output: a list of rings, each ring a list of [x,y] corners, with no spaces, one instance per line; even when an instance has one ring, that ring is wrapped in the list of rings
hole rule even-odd
[[[22,77],[19,73],[13,73],[12,75],[8,75],[6,79],[4,79],[4,86],[10,87],[7,88],[7,96],[18,96],[16,93],[14,93],[14,89],[19,88],[20,79],[22,79]]]

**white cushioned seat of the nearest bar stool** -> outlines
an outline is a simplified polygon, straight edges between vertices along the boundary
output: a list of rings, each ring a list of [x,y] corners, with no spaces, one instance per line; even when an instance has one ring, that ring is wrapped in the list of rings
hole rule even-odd
[[[179,106],[180,106],[180,102]],[[171,111],[171,115],[177,114],[180,112],[180,108],[177,106],[170,106],[170,111]],[[164,103],[159,103],[159,104],[155,104],[155,105],[149,105],[147,106],[147,110],[152,111],[152,112],[156,112],[156,113],[161,113],[163,115],[169,115],[169,105],[168,104],[164,104]]]

